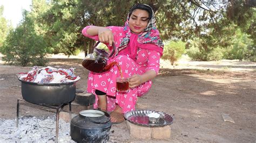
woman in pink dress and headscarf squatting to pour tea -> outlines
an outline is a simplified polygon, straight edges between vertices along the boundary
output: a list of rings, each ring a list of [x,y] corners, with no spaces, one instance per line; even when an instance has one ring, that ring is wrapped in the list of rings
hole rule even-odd
[[[113,124],[124,121],[124,113],[135,110],[137,97],[150,90],[151,79],[159,71],[160,56],[164,44],[159,38],[154,13],[149,5],[134,5],[127,16],[125,26],[86,26],[82,33],[91,39],[104,42],[109,49],[117,47],[116,56],[108,63],[119,63],[123,77],[130,77],[130,91],[116,91],[116,78],[120,77],[117,66],[104,73],[90,72],[87,92],[96,95],[95,108],[109,111]]]

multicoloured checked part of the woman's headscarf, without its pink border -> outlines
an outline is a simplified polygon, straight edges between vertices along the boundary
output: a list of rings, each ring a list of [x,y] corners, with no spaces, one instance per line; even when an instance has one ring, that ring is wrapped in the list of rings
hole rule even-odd
[[[146,5],[146,4],[144,4],[144,5]],[[149,6],[149,5],[146,5],[146,6]],[[152,8],[151,8],[151,10],[152,10]],[[126,48],[129,41],[130,41],[131,30],[130,30],[130,27],[129,27],[129,19],[130,19],[130,17],[129,17],[129,14],[128,14],[127,20],[126,20],[125,26],[124,26],[124,31],[125,31],[126,35],[125,35],[125,37],[123,38],[123,40],[121,41],[121,43],[119,45],[119,51],[123,48]],[[154,44],[154,45],[157,45],[159,48],[161,48],[160,51],[163,51],[164,43],[159,37],[159,31],[157,30],[157,27],[156,27],[156,18],[154,17],[153,10],[152,10],[152,17],[151,17],[149,23],[147,24],[147,27],[138,36],[138,43],[140,43],[140,44]]]

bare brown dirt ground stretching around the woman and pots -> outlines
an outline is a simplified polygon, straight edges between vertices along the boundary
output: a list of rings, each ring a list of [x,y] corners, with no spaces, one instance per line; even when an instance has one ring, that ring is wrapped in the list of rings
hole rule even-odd
[[[86,90],[88,71],[82,56],[50,58],[48,66],[76,68],[77,88]],[[1,55],[0,55],[1,58]],[[138,99],[137,109],[164,111],[174,116],[171,138],[131,138],[126,123],[113,125],[111,142],[256,142],[256,63],[246,61],[161,61],[152,89]],[[0,118],[15,119],[17,98],[22,98],[17,73],[31,67],[5,66],[0,60]],[[227,114],[234,123],[224,121]],[[38,106],[20,106],[20,116],[49,116]]]

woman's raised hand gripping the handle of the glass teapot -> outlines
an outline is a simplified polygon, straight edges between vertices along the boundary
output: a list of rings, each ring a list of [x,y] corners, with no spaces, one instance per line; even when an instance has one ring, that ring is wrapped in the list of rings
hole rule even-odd
[[[109,28],[101,27],[98,30],[98,38],[100,42],[109,43],[112,46],[113,33]]]

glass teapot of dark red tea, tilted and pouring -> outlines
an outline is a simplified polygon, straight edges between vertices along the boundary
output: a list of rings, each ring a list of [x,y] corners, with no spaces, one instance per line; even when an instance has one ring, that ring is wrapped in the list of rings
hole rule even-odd
[[[109,55],[106,51],[104,51],[104,49],[96,48],[96,46],[99,43],[100,41],[98,41],[95,44],[95,46],[93,46],[93,52],[85,56],[85,58],[82,61],[82,65],[84,68],[95,73],[102,73],[104,71],[109,70],[110,67],[112,67],[113,63],[107,65],[107,60],[114,54],[114,51],[116,49],[116,47],[113,44],[112,53]]]

